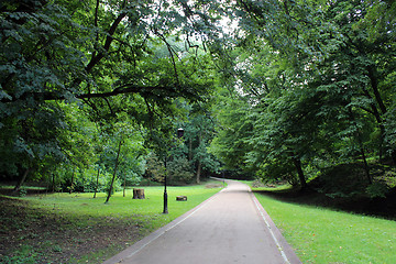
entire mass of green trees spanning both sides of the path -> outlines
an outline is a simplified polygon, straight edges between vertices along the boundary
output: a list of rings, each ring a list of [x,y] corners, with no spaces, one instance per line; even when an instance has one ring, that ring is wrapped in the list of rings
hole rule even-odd
[[[7,178],[100,190],[109,179],[165,174],[199,183],[222,167],[304,189],[360,164],[373,194],[384,189],[373,166],[396,164],[393,1],[19,0],[0,9]]]

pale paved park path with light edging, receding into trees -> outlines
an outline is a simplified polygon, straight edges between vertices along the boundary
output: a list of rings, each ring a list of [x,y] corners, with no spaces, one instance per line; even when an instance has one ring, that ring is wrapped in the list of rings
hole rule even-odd
[[[227,182],[226,189],[105,263],[300,263],[250,188]]]

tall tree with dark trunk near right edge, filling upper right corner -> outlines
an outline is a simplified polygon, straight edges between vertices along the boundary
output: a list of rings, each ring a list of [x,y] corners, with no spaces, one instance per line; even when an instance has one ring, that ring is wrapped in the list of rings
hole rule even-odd
[[[349,87],[345,94],[350,102],[373,114],[377,122],[380,155],[384,147],[393,152],[394,146],[384,141],[383,117],[391,102],[385,98],[392,89],[383,84],[393,78],[394,72],[394,59],[389,56],[395,47],[394,32],[389,30],[394,23],[391,19],[394,4],[387,1],[283,1],[258,6],[239,1],[238,8],[248,18],[241,23],[253,23],[243,30],[260,34],[290,62],[296,75],[337,97],[334,85]],[[277,11],[276,15],[270,16],[273,10]],[[385,12],[384,18],[374,14],[377,10]],[[369,21],[376,22],[367,25]],[[376,26],[377,34],[373,33],[372,25]]]

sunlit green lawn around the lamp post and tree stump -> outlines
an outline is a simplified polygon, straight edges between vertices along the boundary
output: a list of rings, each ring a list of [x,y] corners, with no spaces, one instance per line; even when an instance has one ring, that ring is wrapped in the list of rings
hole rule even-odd
[[[53,210],[69,217],[85,217],[86,221],[79,224],[89,224],[90,218],[118,218],[139,222],[142,230],[151,232],[191,208],[208,199],[220,188],[206,188],[206,185],[168,187],[168,215],[163,215],[164,187],[150,186],[139,187],[144,189],[145,199],[132,199],[132,189],[128,189],[125,197],[119,191],[111,196],[110,201],[105,204],[107,195],[97,194],[51,194],[44,196],[31,196],[23,199],[32,201],[41,209]],[[176,196],[185,195],[187,201],[176,201]]]

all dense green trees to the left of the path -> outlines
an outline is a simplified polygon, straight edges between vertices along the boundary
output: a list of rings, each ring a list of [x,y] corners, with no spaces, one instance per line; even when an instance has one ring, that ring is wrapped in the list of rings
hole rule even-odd
[[[138,183],[150,142],[169,139],[186,111],[175,100],[205,100],[215,87],[200,52],[217,32],[213,8],[2,1],[1,174],[70,190],[105,175]]]

